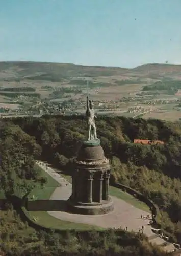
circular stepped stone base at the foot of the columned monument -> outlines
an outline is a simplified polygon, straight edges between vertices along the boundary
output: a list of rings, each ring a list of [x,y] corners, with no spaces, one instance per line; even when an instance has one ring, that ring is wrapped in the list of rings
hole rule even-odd
[[[73,214],[102,215],[107,214],[114,209],[111,198],[109,198],[109,201],[107,201],[107,203],[104,202],[103,204],[80,204],[74,203],[70,199],[67,201],[67,203],[68,210]]]

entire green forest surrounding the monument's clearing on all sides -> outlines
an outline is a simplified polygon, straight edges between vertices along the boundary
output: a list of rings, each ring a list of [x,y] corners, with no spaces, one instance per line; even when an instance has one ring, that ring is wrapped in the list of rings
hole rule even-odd
[[[98,119],[97,133],[111,162],[111,179],[156,203],[164,233],[181,243],[181,124],[125,117]],[[12,196],[22,199],[46,182],[34,167],[35,159],[46,159],[67,173],[73,170],[72,160],[86,138],[82,116],[4,119],[0,132],[0,194],[7,198],[6,210],[0,211],[2,251],[9,255],[166,255],[141,234],[123,230],[47,233],[20,219]],[[165,144],[134,144],[134,139]]]

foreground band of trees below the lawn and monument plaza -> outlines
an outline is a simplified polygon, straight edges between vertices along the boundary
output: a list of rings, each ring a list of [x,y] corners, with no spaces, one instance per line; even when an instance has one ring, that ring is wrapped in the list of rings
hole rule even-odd
[[[37,231],[23,223],[16,211],[1,212],[0,252],[6,255],[166,256],[141,234],[113,229],[97,232]],[[3,253],[1,253],[3,255]]]

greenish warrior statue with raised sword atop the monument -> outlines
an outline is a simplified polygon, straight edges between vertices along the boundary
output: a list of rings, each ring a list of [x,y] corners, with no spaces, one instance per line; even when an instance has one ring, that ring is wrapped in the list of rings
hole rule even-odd
[[[86,117],[87,117],[87,124],[88,124],[88,140],[97,139],[96,126],[94,122],[94,118],[96,119],[97,117],[94,112],[94,103],[92,100],[89,100],[88,96],[87,96]]]

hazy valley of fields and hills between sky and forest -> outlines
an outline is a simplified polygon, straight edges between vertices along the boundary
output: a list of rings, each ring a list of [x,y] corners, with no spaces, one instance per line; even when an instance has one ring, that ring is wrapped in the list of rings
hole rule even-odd
[[[175,110],[181,99],[181,88],[175,87],[175,79],[181,79],[179,65],[150,64],[124,69],[39,62],[6,62],[5,65],[5,62],[0,62],[0,70],[0,108],[3,106],[13,111],[19,101],[35,108],[40,101],[61,104],[72,99],[76,111],[82,113],[85,112],[88,79],[89,96],[99,114],[165,120],[181,118],[181,111]],[[160,86],[162,81],[167,90],[156,90],[156,87],[145,91],[145,86]],[[169,89],[169,81],[177,88],[174,92]],[[19,88],[24,87],[34,91],[21,92]],[[12,88],[12,91],[7,91],[7,88]],[[39,98],[34,94],[39,94]],[[102,107],[99,102],[102,102]]]

